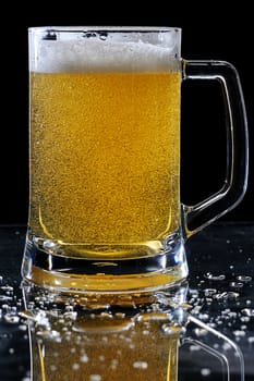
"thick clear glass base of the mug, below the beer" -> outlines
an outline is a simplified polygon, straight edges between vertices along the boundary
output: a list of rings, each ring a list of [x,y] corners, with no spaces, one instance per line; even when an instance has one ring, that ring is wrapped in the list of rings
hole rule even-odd
[[[33,284],[68,293],[142,293],[181,283],[188,276],[188,265],[182,239],[162,254],[106,260],[47,253],[27,236],[22,276]]]

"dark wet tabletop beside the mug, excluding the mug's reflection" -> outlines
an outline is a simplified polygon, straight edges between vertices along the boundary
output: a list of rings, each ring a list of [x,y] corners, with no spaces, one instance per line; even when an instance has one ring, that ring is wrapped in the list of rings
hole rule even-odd
[[[20,275],[25,232],[25,226],[0,228],[1,381],[31,380],[29,340],[27,323],[22,318]],[[253,381],[254,223],[210,225],[190,238],[186,249],[191,316],[237,344],[244,358],[245,380]],[[180,380],[196,380],[192,371],[195,369],[190,360],[188,374],[180,370]],[[199,376],[204,381],[211,380],[207,366]]]

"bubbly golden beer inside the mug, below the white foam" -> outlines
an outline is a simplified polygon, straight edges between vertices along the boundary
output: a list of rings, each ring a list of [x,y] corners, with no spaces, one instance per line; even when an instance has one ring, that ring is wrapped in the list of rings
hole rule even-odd
[[[72,256],[150,255],[179,228],[180,72],[31,73],[31,212]]]

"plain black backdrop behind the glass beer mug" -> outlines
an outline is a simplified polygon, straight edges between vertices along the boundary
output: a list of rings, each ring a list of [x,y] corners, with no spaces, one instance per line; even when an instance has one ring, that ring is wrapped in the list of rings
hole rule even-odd
[[[17,8],[20,7],[20,8]],[[28,211],[28,62],[27,27],[50,25],[150,25],[182,28],[184,59],[231,62],[238,70],[250,133],[249,188],[223,220],[250,221],[253,213],[252,11],[232,2],[65,2],[7,4],[1,30],[0,223],[26,223]],[[182,86],[182,201],[195,204],[223,183],[222,99],[215,83]]]

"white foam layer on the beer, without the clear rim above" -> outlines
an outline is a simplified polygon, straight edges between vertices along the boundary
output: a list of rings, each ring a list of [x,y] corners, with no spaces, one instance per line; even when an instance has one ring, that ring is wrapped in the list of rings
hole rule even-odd
[[[178,71],[179,58],[174,45],[41,39],[31,51],[29,65],[40,73]]]

